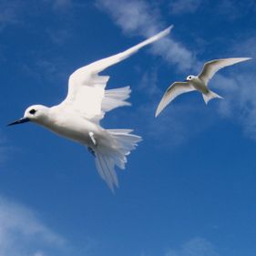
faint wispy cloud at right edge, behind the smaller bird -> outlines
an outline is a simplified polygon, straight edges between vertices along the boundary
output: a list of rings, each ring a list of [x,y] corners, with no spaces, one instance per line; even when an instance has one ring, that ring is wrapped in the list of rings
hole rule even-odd
[[[240,123],[245,135],[253,139],[256,139],[256,67],[253,63],[256,57],[255,38],[251,36],[230,48],[232,55],[251,56],[253,59],[228,67],[232,71],[226,70],[223,76],[217,74],[210,83],[211,87],[218,88],[220,95],[225,97],[220,101],[220,116]]]

